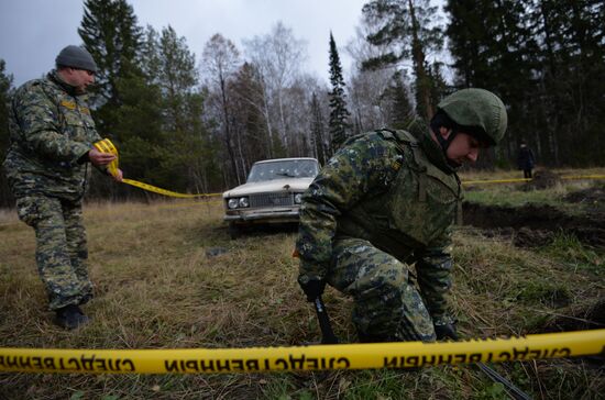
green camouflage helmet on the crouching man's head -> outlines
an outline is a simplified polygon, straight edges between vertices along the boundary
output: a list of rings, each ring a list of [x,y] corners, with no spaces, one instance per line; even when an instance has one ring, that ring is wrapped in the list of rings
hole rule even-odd
[[[474,129],[470,134],[479,134],[495,146],[506,132],[508,116],[502,100],[485,89],[462,89],[448,96],[437,108],[442,110],[457,124]],[[479,129],[480,132],[476,132]]]

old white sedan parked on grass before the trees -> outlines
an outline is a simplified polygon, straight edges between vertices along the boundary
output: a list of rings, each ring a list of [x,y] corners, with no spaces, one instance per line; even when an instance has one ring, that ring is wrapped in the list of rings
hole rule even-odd
[[[244,185],[222,193],[231,237],[254,223],[298,222],[302,193],[319,173],[315,158],[254,163]]]

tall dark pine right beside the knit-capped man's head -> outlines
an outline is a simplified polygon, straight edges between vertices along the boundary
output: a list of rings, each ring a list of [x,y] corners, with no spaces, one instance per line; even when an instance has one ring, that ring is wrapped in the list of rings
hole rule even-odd
[[[125,0],[86,0],[78,33],[98,66],[91,107],[97,130],[120,152],[129,178],[146,180],[158,164],[161,97],[141,67],[142,30]],[[96,179],[96,178],[94,178]],[[96,179],[91,195],[125,196],[139,190]]]

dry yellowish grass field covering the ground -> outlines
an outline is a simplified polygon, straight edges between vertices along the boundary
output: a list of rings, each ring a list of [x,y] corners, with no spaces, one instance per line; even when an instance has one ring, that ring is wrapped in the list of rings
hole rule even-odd
[[[504,189],[482,192],[491,190]],[[515,187],[506,193],[522,201],[557,197]],[[294,230],[254,231],[231,241],[218,200],[88,203],[85,219],[96,285],[96,298],[85,311],[92,322],[66,332],[52,323],[53,314],[46,310],[35,270],[33,230],[16,220],[14,210],[0,211],[0,346],[194,348],[319,340],[315,313],[296,284],[297,262],[290,256]],[[538,333],[562,321],[572,330],[586,324],[605,327],[591,324],[586,316],[605,299],[602,248],[564,233],[549,245],[518,248],[510,238],[488,237],[469,226],[455,231],[454,242],[453,304],[463,335]],[[215,255],[217,248],[222,253]],[[356,341],[349,322],[350,300],[330,288],[324,300],[337,335],[344,342]],[[605,398],[605,370],[587,360],[536,360],[494,365],[494,369],[537,399]],[[507,397],[499,385],[470,366],[414,373],[0,374],[0,399],[256,398]]]

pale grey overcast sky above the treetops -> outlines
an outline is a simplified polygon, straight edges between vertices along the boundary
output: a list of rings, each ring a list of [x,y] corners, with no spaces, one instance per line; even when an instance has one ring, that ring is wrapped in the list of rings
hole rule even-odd
[[[330,30],[346,70],[344,52],[354,37],[366,0],[128,0],[140,26],[157,31],[170,25],[199,55],[215,33],[230,38],[240,51],[242,40],[271,32],[282,21],[295,37],[307,42],[308,60],[301,70],[328,81]],[[54,67],[57,53],[81,44],[77,33],[82,0],[0,0],[0,58],[15,86],[38,78]]]

